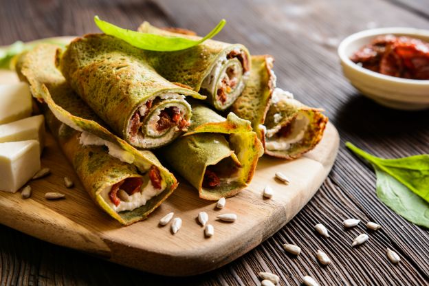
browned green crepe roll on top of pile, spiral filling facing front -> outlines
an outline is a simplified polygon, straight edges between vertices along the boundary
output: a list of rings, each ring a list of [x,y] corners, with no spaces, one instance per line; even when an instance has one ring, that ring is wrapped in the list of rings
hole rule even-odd
[[[173,141],[189,125],[185,96],[205,98],[159,76],[143,50],[105,34],[75,39],[58,52],[57,65],[89,107],[137,148]]]

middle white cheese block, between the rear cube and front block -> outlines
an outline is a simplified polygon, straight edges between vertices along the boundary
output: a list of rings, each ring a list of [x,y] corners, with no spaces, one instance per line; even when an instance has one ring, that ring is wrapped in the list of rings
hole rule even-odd
[[[45,144],[45,118],[35,115],[15,122],[0,125],[0,143],[37,140],[42,152]]]

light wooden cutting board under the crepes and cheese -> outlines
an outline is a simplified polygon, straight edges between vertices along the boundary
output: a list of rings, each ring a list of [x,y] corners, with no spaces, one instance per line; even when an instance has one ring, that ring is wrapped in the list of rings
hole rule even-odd
[[[0,83],[15,83],[13,72],[0,70]],[[313,197],[335,161],[339,136],[332,124],[318,146],[300,159],[262,157],[252,183],[239,195],[226,200],[222,210],[215,202],[199,199],[198,192],[179,179],[177,190],[146,221],[122,226],[98,209],[78,180],[72,166],[61,153],[52,135],[47,134],[42,166],[52,174],[34,181],[32,197],[21,199],[20,192],[0,191],[0,223],[44,241],[89,252],[102,259],[168,276],[201,274],[221,267],[252,250],[290,221]],[[285,173],[290,184],[274,179]],[[63,178],[74,180],[67,189]],[[263,199],[263,188],[270,184],[272,199]],[[45,192],[63,192],[66,199],[47,201]],[[214,236],[205,238],[197,223],[200,211],[208,213]],[[159,226],[168,212],[183,221],[177,234],[170,224]],[[218,214],[234,212],[238,219],[224,223]]]

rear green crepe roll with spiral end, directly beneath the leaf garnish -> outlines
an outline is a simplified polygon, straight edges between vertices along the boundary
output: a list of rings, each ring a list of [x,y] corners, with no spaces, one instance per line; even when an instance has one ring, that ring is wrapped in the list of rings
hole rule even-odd
[[[140,32],[201,39],[194,32],[182,29],[162,30],[144,22]],[[207,96],[217,110],[225,110],[238,98],[250,71],[250,54],[240,44],[207,40],[177,52],[146,51],[148,62],[164,78],[187,85]]]

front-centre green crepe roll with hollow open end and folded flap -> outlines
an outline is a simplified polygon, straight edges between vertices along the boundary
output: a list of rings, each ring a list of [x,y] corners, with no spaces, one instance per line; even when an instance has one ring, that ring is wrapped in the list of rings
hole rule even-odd
[[[165,161],[199,190],[199,197],[231,197],[248,186],[263,146],[248,120],[227,118],[191,102],[188,132],[160,150]]]

